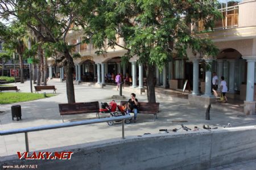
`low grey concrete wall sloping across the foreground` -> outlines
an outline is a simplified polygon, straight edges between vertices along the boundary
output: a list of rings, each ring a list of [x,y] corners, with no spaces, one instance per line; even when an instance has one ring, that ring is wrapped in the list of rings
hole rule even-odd
[[[71,160],[17,160],[3,164],[38,164],[39,169],[205,169],[256,158],[256,128],[201,130],[143,135],[48,151],[73,151]]]

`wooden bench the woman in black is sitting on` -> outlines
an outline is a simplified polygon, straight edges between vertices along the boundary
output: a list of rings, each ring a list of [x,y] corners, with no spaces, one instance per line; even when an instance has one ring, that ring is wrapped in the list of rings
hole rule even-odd
[[[120,105],[126,104],[128,101],[121,101]],[[154,114],[154,121],[158,118],[159,103],[138,102],[138,113],[140,114]]]

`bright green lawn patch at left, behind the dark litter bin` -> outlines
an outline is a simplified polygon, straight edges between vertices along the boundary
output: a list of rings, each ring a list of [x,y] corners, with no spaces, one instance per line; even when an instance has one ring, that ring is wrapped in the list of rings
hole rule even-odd
[[[47,97],[55,96],[53,94],[47,94]],[[4,92],[0,93],[0,104],[10,104],[19,103],[23,101],[31,101],[44,99],[43,94],[32,94],[32,93],[22,93],[22,92]]]

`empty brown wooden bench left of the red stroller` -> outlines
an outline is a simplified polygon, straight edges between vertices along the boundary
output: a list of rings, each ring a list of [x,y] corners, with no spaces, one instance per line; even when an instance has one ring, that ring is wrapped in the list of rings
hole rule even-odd
[[[96,113],[96,117],[100,118],[98,112],[100,105],[98,101],[85,102],[85,103],[72,103],[72,104],[59,104],[59,112],[63,120],[64,115]]]

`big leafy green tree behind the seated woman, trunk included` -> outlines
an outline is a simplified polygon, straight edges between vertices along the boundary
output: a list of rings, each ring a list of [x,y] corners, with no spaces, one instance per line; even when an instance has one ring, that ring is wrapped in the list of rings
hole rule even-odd
[[[190,25],[199,20],[206,28],[213,28],[214,19],[220,16],[217,1],[105,0],[93,6],[84,18],[85,34],[100,49],[98,54],[105,53],[106,39],[114,48],[118,45],[116,35],[124,38],[126,56],[137,55],[138,62],[147,66],[148,102],[155,102],[155,65],[162,70],[174,51],[178,57],[186,57],[188,48],[202,56],[217,53],[212,41],[200,39],[190,30]],[[80,12],[84,16],[84,10]]]

